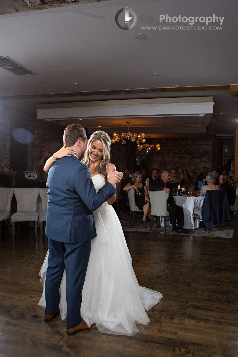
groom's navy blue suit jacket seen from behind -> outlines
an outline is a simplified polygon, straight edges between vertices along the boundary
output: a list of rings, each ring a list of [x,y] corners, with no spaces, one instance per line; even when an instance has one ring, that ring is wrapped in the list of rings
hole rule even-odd
[[[96,236],[93,212],[116,193],[106,182],[96,193],[88,166],[74,155],[50,167],[46,186],[46,237],[64,243],[85,242]]]

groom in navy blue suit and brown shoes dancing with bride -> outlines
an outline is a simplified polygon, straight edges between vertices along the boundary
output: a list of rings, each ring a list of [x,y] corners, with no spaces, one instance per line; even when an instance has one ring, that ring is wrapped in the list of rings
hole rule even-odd
[[[59,312],[59,288],[66,272],[67,335],[86,330],[81,318],[82,290],[91,249],[96,236],[93,212],[116,193],[113,185],[122,173],[111,171],[108,182],[96,193],[83,156],[88,139],[84,128],[72,124],[64,130],[64,142],[75,149],[76,155],[54,162],[46,186],[48,205],[45,234],[49,239],[49,263],[45,281],[45,322]]]

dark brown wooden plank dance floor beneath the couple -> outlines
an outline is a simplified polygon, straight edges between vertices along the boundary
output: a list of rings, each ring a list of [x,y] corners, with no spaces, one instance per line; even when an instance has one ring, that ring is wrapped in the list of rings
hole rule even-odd
[[[0,356],[238,356],[238,246],[228,238],[125,232],[139,284],[162,292],[134,337],[95,325],[66,335],[66,321],[43,321],[38,276],[48,244],[23,227],[0,242]]]

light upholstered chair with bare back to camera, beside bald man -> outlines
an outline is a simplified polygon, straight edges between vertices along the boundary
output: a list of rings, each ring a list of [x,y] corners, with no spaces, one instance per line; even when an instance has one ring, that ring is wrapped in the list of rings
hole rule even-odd
[[[150,208],[151,208],[151,222],[150,231],[152,230],[154,216],[160,216],[162,221],[164,219],[164,233],[166,233],[166,221],[169,217],[169,212],[167,211],[167,201],[169,193],[165,191],[149,191],[150,197]]]

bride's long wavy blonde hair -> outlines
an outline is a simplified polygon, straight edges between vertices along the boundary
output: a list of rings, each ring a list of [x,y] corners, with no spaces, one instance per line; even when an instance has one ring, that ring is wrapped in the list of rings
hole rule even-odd
[[[87,149],[85,151],[83,160],[83,164],[87,165],[88,167],[90,166],[90,159],[89,159],[89,150],[90,147],[95,140],[100,140],[101,143],[103,144],[103,156],[101,158],[101,161],[99,162],[98,166],[95,167],[94,172],[98,172],[98,174],[103,175],[105,177],[105,180],[107,181],[107,172],[106,172],[106,166],[110,162],[110,148],[111,148],[111,139],[108,134],[106,134],[105,131],[95,131],[89,138]]]

